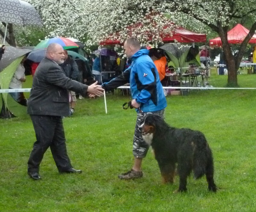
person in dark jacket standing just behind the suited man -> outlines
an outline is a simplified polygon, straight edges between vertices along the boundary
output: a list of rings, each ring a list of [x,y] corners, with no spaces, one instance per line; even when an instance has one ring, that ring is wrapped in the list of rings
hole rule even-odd
[[[76,62],[69,58],[68,51],[64,50],[64,62],[60,64],[60,67],[64,70],[66,77],[78,81],[77,77],[79,74],[78,66]],[[70,102],[70,114],[75,112],[76,107],[76,92],[69,91],[69,102]]]

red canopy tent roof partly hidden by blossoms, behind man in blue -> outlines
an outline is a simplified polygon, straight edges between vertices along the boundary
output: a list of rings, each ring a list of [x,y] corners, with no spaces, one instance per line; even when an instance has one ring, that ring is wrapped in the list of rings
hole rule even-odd
[[[168,26],[165,26],[166,29]],[[206,34],[199,34],[195,32],[191,32],[187,29],[184,29],[180,26],[175,27],[174,31],[172,31],[171,35],[164,35],[162,38],[163,42],[173,42],[177,41],[180,43],[193,43],[193,42],[205,42],[206,41]],[[111,40],[107,39],[100,42],[100,45],[115,45],[115,44],[122,44],[118,39]]]

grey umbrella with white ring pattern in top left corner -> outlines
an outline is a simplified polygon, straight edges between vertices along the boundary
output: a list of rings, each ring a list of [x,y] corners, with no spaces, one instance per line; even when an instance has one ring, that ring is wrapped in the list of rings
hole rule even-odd
[[[42,19],[36,9],[31,4],[21,0],[0,0],[0,21],[7,23],[4,43],[8,23],[22,26],[43,25]]]

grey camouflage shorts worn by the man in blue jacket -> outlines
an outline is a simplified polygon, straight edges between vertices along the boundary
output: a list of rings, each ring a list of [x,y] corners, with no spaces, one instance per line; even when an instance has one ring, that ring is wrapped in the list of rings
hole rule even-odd
[[[148,112],[148,113],[160,115],[164,119],[164,109],[155,111],[155,112]],[[147,113],[138,113],[137,114],[136,126],[135,126],[135,131],[134,131],[134,136],[133,136],[133,149],[132,149],[133,156],[137,157],[137,158],[146,157],[148,149],[149,149],[149,146],[143,140],[141,130],[139,129],[139,126],[141,125],[141,122],[143,121],[143,117],[146,114]]]

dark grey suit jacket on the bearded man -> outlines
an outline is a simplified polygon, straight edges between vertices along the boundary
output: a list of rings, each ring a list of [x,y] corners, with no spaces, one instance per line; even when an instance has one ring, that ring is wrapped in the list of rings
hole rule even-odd
[[[28,114],[69,116],[68,90],[85,93],[87,88],[87,85],[66,77],[56,62],[45,57],[33,77]]]

